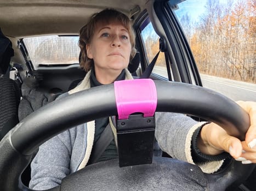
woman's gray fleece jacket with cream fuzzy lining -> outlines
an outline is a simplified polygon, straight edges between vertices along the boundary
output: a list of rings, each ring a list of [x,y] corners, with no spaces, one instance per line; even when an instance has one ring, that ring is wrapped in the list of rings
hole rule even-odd
[[[90,71],[69,94],[90,88]],[[133,79],[126,70],[126,79]],[[168,125],[167,125],[168,124]],[[183,114],[156,112],[155,136],[160,148],[173,158],[194,164],[191,157],[192,134],[202,126]],[[73,127],[39,147],[31,163],[30,188],[44,190],[58,186],[67,175],[88,163],[93,147],[95,122]],[[204,172],[219,169],[223,161],[197,164]]]

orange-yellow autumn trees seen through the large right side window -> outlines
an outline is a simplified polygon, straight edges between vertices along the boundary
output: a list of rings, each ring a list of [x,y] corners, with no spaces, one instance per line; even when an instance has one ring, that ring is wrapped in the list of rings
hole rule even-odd
[[[192,21],[183,18],[186,22],[181,24],[193,32],[187,39],[201,73],[256,82],[255,5],[255,0],[240,0],[223,7],[218,1],[208,0],[206,14],[194,30]]]

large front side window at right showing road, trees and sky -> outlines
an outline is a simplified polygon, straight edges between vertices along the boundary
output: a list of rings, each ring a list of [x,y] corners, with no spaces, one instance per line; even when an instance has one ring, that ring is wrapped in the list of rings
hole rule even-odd
[[[192,1],[174,10],[204,87],[233,100],[256,101],[253,1]]]

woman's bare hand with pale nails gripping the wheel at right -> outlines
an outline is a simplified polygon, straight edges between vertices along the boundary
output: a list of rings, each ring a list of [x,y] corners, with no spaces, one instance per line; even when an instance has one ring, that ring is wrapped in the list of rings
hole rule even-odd
[[[203,126],[198,138],[198,148],[204,154],[216,155],[229,152],[243,164],[256,163],[256,102],[237,102],[250,117],[251,125],[246,133],[245,141],[240,141],[215,123]]]

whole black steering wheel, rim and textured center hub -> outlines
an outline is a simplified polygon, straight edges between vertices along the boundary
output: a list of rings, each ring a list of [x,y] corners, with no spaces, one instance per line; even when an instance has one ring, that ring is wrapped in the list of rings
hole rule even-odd
[[[225,129],[229,134],[244,139],[249,116],[232,100],[186,83],[154,82],[156,111],[202,117],[229,127]],[[78,124],[113,115],[117,115],[113,84],[74,93],[33,112],[0,142],[0,190],[31,190],[22,184],[20,176],[38,146]],[[233,160],[223,170],[209,175],[198,166],[172,158],[156,157],[152,164],[122,168],[117,163],[114,159],[89,165],[50,190],[225,190],[235,181],[246,179],[255,167]]]

